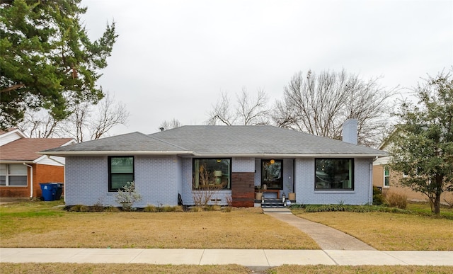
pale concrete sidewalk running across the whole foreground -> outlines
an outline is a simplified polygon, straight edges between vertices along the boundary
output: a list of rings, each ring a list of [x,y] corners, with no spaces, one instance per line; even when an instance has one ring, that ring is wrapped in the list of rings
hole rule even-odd
[[[248,267],[296,265],[453,266],[453,251],[273,249],[0,249],[2,263],[150,263]]]

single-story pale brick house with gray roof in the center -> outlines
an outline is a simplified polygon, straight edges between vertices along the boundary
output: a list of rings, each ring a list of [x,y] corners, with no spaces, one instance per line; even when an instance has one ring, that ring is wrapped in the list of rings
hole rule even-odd
[[[212,203],[253,207],[254,187],[264,184],[268,198],[295,193],[298,203],[363,205],[372,202],[372,162],[385,155],[265,125],[133,132],[41,153],[66,157],[67,205],[117,205],[117,190],[134,181],[143,198],[137,207],[177,205],[178,194],[194,205],[194,194],[211,187]]]

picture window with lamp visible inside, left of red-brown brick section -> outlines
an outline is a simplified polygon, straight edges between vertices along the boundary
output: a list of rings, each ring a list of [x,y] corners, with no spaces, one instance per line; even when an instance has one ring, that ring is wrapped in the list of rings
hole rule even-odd
[[[193,159],[193,189],[231,189],[231,159]]]

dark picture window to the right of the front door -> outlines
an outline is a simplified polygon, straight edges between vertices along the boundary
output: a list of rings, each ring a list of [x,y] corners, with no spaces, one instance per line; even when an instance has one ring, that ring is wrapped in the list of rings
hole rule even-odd
[[[354,189],[353,159],[315,159],[315,190]]]

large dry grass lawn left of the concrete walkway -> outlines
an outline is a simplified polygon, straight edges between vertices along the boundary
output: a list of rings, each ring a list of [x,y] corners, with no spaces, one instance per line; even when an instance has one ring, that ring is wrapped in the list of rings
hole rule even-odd
[[[299,229],[264,215],[260,208],[231,212],[67,212],[52,207],[59,203],[1,205],[0,246],[319,249]]]

